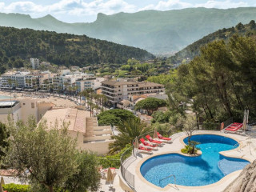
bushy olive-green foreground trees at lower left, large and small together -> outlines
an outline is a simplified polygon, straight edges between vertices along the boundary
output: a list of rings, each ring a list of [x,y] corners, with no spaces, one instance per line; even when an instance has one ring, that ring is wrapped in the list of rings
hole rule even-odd
[[[99,175],[93,154],[79,154],[76,140],[67,132],[68,124],[47,126],[30,118],[27,124],[9,120],[10,146],[5,166],[17,170],[18,178],[32,184],[34,191],[70,189],[97,190]],[[71,190],[70,190],[71,191]],[[72,190],[74,191],[74,190]]]

